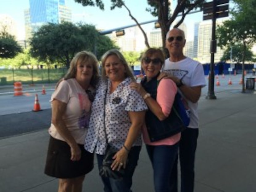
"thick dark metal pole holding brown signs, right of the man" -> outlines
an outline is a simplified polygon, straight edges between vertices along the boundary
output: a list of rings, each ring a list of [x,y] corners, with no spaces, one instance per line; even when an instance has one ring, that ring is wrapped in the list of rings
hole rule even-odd
[[[212,40],[211,40],[211,64],[209,75],[208,94],[206,99],[217,99],[214,94],[214,53],[216,53],[215,26],[216,26],[216,0],[213,0],[213,24],[212,24]]]

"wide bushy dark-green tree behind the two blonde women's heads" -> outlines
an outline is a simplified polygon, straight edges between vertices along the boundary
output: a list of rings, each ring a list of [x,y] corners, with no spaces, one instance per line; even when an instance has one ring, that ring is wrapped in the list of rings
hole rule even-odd
[[[106,37],[99,37],[99,32],[93,25],[72,24],[63,22],[61,24],[49,23],[39,28],[31,38],[31,55],[38,58],[39,61],[51,63],[69,63],[74,55],[81,51],[95,51],[98,47],[98,53],[115,48],[114,43],[109,42]],[[102,43],[106,47],[96,44]],[[101,55],[98,54],[98,57]]]

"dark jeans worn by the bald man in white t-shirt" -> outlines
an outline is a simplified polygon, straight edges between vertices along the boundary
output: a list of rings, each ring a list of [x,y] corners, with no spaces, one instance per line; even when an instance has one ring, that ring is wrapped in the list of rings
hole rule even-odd
[[[198,129],[187,128],[181,133],[180,139],[180,172],[181,192],[193,192],[195,180],[195,153]],[[171,173],[171,192],[178,191],[178,157]]]

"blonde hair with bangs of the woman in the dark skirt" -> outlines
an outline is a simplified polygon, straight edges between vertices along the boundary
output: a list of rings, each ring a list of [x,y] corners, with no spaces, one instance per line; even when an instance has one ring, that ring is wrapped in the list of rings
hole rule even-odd
[[[90,81],[90,85],[92,85],[94,88],[96,87],[96,84],[99,80],[98,60],[95,55],[89,51],[80,51],[76,53],[76,55],[70,62],[68,72],[66,73],[64,78],[57,83],[56,87],[62,80],[68,80],[76,77],[76,66],[79,62],[87,62],[93,65],[93,76]]]

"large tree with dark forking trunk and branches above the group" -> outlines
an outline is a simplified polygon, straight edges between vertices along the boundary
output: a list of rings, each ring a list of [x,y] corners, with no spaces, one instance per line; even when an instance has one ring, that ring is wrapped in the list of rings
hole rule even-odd
[[[134,22],[138,25],[140,30],[142,31],[144,38],[145,38],[145,45],[150,47],[147,35],[143,28],[140,26],[138,20],[132,15],[131,10],[126,6],[124,0],[110,0],[112,5],[110,7],[111,10],[115,9],[116,7],[121,8],[122,6],[128,11],[129,16]],[[204,0],[177,0],[177,6],[175,7],[173,14],[169,9],[170,2],[169,0],[147,0],[149,8],[146,8],[153,16],[158,17],[158,22],[160,23],[161,31],[162,31],[162,43],[163,49],[165,49],[165,37],[167,32],[170,29],[171,24],[177,18],[178,14],[181,14],[180,20],[174,27],[179,27],[180,24],[184,21],[184,18],[189,12],[197,7],[201,7]],[[83,6],[97,6],[101,10],[104,10],[104,3],[102,0],[75,0],[75,2],[81,3]],[[166,54],[167,51],[166,51]]]

